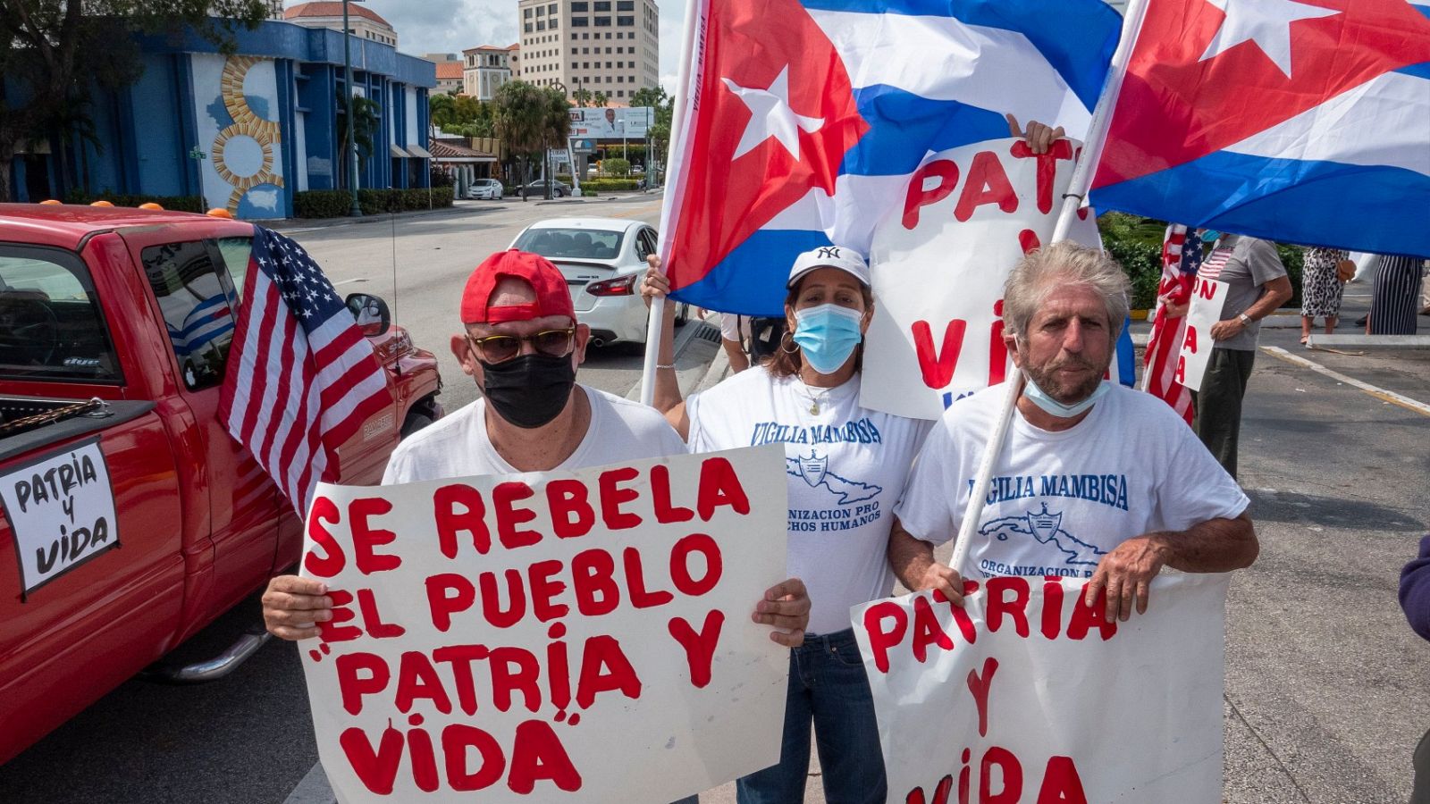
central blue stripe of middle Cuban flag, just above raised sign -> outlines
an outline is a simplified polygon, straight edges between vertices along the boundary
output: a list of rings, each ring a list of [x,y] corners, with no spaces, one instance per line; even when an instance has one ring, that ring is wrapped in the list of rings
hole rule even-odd
[[[854,90],[854,100],[869,130],[844,155],[839,173],[907,175],[927,152],[1008,136],[1002,114],[957,100],[928,100],[891,86]],[[911,149],[911,142],[922,147]]]

